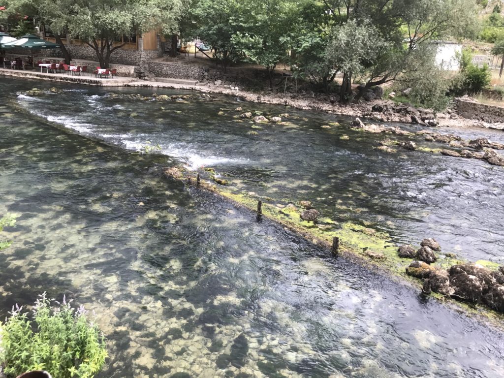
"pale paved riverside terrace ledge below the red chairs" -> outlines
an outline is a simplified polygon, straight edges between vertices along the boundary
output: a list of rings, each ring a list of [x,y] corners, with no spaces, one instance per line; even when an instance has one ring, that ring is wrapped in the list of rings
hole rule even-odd
[[[77,83],[77,84],[86,84],[86,85],[94,85],[98,87],[122,87],[125,84],[131,83],[135,81],[135,78],[128,77],[115,77],[113,79],[100,79],[94,78],[92,75],[89,76],[72,76],[67,74],[47,74],[42,72],[35,71],[16,71],[9,69],[0,68],[0,75],[3,76],[11,76],[18,77],[24,79],[39,79],[39,80],[48,80],[48,81],[56,81],[56,82],[67,82],[67,83]]]

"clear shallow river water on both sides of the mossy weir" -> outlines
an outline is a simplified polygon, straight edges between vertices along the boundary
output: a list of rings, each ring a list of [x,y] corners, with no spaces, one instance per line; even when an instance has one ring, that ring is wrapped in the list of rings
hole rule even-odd
[[[291,124],[250,129],[236,106],[286,109],[232,98],[161,104],[123,97],[152,90],[76,86],[27,98],[50,86],[0,85],[0,214],[19,216],[1,235],[14,243],[0,253],[0,316],[44,290],[94,309],[110,354],[101,377],[504,375],[501,332],[157,168],[212,166],[236,190],[310,199],[335,218],[389,221],[398,239],[428,233],[494,261],[502,170],[390,158],[369,136],[320,129],[347,119],[318,113],[288,109]],[[133,152],[147,142],[163,154]],[[342,214],[338,198],[362,210]]]

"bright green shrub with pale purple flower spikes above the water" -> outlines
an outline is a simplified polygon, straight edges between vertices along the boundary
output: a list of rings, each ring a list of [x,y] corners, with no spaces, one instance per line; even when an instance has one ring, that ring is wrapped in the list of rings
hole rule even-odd
[[[103,335],[84,308],[74,310],[65,297],[56,303],[52,309],[46,294],[39,295],[33,321],[16,305],[0,326],[0,363],[8,376],[46,370],[53,378],[91,378],[105,363]]]

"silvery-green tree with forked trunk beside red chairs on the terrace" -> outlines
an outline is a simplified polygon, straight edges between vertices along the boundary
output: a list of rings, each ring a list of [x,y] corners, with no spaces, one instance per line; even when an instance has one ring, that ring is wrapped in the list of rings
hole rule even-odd
[[[153,29],[172,33],[181,10],[182,0],[52,0],[51,6],[40,12],[44,19],[53,20],[54,32],[66,29],[79,36],[95,50],[100,67],[108,68],[111,54],[125,44],[114,45],[115,40]]]

